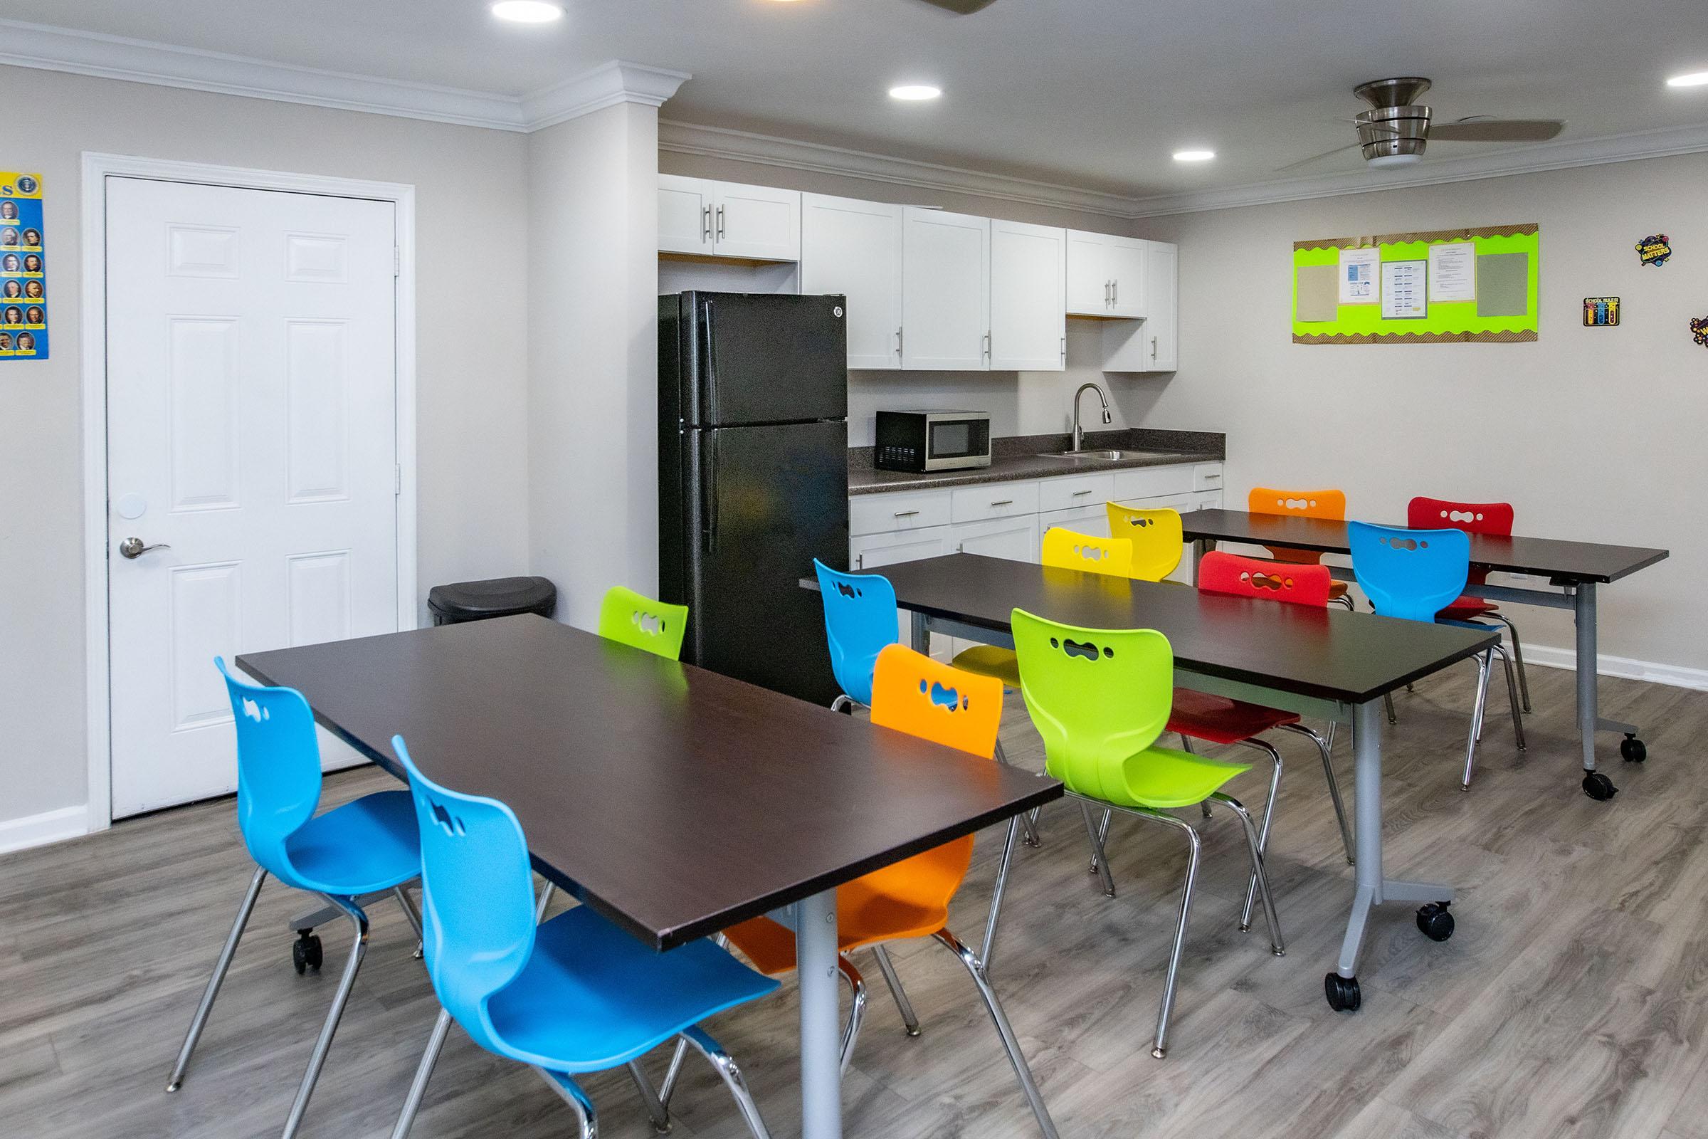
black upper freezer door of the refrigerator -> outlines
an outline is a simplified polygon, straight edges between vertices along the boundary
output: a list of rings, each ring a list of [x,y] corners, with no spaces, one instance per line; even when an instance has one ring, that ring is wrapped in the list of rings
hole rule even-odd
[[[688,292],[678,335],[690,427],[847,418],[842,297]]]

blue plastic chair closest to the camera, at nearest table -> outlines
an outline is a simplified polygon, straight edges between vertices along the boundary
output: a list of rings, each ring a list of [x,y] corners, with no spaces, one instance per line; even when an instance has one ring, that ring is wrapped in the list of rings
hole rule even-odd
[[[536,1067],[574,1108],[582,1139],[598,1124],[574,1076],[622,1066],[652,1124],[670,1125],[639,1060],[676,1037],[717,1069],[755,1139],[769,1139],[741,1069],[699,1023],[775,992],[777,982],[711,941],[654,953],[586,905],[535,926],[528,842],[511,808],[436,784],[401,736],[391,746],[415,797],[422,944],[442,1006],[393,1136],[408,1132],[456,1019],[482,1048]]]

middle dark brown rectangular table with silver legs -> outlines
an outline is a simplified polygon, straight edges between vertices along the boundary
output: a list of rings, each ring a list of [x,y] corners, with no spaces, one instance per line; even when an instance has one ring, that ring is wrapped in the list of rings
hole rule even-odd
[[[1356,985],[1370,910],[1383,902],[1450,902],[1452,886],[1382,874],[1382,697],[1486,652],[1494,630],[1402,622],[1201,594],[974,553],[883,567],[914,615],[914,645],[933,632],[1013,647],[1011,613],[1086,628],[1156,628],[1175,654],[1175,683],[1353,726],[1358,866],[1336,972]]]

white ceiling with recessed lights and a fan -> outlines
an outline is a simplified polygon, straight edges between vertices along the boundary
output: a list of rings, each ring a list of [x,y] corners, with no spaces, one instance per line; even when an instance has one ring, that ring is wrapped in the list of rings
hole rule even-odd
[[[1353,85],[1389,75],[1433,79],[1438,120],[1565,118],[1563,140],[1708,125],[1708,87],[1662,82],[1708,70],[1703,2],[567,0],[519,27],[485,0],[0,0],[0,17],[504,96],[622,58],[692,72],[671,120],[1153,196],[1351,142]],[[904,80],[945,97],[888,99]],[[1175,164],[1184,145],[1220,157]],[[1424,162],[1500,149],[1436,142]]]

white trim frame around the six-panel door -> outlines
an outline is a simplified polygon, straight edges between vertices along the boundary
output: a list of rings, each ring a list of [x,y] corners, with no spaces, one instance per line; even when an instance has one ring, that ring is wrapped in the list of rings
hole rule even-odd
[[[82,155],[82,418],[84,418],[84,639],[85,717],[89,727],[89,799],[85,830],[113,825],[113,669],[108,598],[108,415],[106,415],[106,179],[277,190],[330,198],[389,202],[396,208],[396,453],[401,482],[398,523],[398,628],[418,623],[415,599],[415,186],[357,178],[256,171],[239,166],[178,162],[121,154]]]

